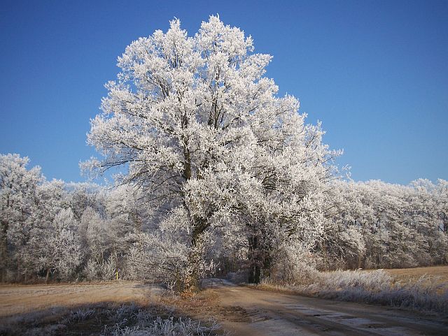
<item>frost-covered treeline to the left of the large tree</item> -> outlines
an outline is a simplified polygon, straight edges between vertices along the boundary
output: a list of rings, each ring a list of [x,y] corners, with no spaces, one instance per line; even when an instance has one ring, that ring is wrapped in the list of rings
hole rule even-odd
[[[123,272],[129,235],[141,229],[132,195],[46,181],[28,162],[0,156],[1,280],[112,279]]]

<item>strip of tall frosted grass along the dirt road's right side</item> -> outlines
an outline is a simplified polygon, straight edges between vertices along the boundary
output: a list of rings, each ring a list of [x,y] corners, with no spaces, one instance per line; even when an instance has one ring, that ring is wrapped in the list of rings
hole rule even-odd
[[[440,282],[440,277],[428,275],[405,282],[395,280],[385,270],[319,272],[307,284],[279,286],[268,280],[259,288],[448,316],[448,290],[445,283]]]

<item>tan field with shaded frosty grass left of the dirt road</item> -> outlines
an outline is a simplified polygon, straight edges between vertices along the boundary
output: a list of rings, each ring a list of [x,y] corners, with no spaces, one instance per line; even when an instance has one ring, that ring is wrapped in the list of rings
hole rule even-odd
[[[143,282],[3,285],[0,335],[216,335],[213,321],[200,324],[175,312],[176,301]]]

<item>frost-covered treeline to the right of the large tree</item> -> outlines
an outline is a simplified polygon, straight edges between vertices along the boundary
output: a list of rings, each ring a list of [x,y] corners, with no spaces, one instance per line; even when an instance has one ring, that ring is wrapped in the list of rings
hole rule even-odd
[[[333,184],[316,250],[323,269],[410,268],[448,261],[448,182]]]

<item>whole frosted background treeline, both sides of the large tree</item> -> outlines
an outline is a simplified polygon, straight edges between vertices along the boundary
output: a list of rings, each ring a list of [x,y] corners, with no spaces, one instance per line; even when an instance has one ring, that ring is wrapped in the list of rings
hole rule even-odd
[[[188,275],[188,233],[175,220],[158,222],[162,214],[151,210],[138,189],[46,181],[40,168],[28,163],[17,154],[0,156],[2,282],[107,280],[118,272],[120,278],[175,286]],[[260,277],[290,282],[314,268],[447,263],[447,181],[409,186],[336,181],[324,194],[318,238],[288,240],[280,232],[280,241],[273,238],[280,224],[270,231],[245,227],[250,235],[241,233],[242,226],[217,226],[200,244],[201,275],[255,263]]]

